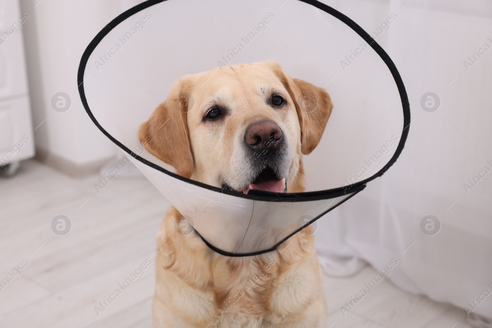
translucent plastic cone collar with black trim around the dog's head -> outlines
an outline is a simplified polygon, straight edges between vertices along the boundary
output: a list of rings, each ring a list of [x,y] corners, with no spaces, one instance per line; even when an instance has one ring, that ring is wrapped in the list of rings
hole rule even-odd
[[[193,5],[200,6],[199,2]],[[77,84],[94,124],[130,155],[184,215],[187,232],[182,234],[197,233],[223,255],[257,255],[275,250],[298,232],[306,233],[307,225],[395,163],[408,135],[408,98],[388,54],[334,8],[315,0],[289,1],[277,9],[267,1],[236,3],[245,7],[234,10],[249,11],[248,15],[260,17],[258,20],[269,12],[275,18],[268,25],[262,23],[266,20],[260,21],[263,25],[257,23],[261,32],[234,63],[275,59],[289,75],[317,86],[333,76],[333,82],[325,84],[334,103],[332,116],[317,148],[303,156],[308,191],[276,194],[250,190],[245,195],[179,176],[145,151],[137,136],[139,125],[166,99],[166,85],[190,72],[211,69],[211,63],[221,60],[231,45],[243,42],[238,33],[256,28],[248,15],[226,15],[226,22],[217,23],[220,17],[215,11],[203,14],[211,10],[203,2],[203,9],[190,11],[185,0],[148,0],[125,11],[85,50]],[[221,12],[229,6],[224,3]],[[187,28],[196,22],[210,29]],[[303,34],[303,29],[315,29],[316,33]],[[214,33],[220,37],[210,38]],[[301,49],[300,42],[309,44],[309,51]],[[362,44],[367,49],[361,54]],[[353,51],[359,55],[354,57]],[[308,60],[302,62],[300,58],[305,56]],[[302,76],[306,71],[310,75]]]

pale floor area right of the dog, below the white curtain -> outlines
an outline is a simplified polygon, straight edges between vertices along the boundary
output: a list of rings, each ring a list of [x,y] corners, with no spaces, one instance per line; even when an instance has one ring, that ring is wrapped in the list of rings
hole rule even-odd
[[[325,277],[323,288],[330,311],[328,326],[332,328],[463,328],[466,313],[450,304],[437,303],[429,298],[408,294],[395,287],[386,278],[348,313],[340,307],[360,293],[364,284],[376,276],[373,268],[366,267],[348,278]],[[354,302],[352,302],[354,303]],[[456,324],[456,326],[454,326]]]

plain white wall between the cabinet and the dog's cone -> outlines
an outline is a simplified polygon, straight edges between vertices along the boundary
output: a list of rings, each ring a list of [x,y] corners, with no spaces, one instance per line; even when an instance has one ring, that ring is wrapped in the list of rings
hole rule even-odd
[[[137,4],[136,0],[24,0],[30,14],[24,26],[31,90],[33,126],[38,151],[61,159],[64,171],[100,165],[116,153],[115,146],[92,124],[80,101],[77,69],[92,38],[106,23]],[[65,92],[71,108],[51,106],[55,93]],[[52,161],[53,162],[53,161]],[[57,165],[55,165],[57,166]],[[95,168],[94,168],[95,169]]]

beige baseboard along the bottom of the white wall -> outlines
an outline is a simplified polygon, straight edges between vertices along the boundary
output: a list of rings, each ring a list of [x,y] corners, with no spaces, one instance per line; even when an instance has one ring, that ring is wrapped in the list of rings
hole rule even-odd
[[[83,178],[92,174],[99,173],[101,167],[108,161],[113,159],[114,156],[85,164],[77,164],[66,160],[58,155],[55,155],[47,150],[36,148],[36,155],[34,158],[69,176],[72,176],[74,178]]]

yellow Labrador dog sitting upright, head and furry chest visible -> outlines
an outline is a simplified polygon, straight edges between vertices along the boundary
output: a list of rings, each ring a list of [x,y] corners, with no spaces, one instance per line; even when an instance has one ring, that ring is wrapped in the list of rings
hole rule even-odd
[[[303,192],[302,155],[318,145],[332,107],[325,89],[291,78],[277,62],[217,67],[176,82],[139,139],[186,178],[245,194]],[[251,160],[267,143],[267,153]],[[154,328],[326,326],[312,234],[261,255],[227,257],[196,234],[180,234],[181,219],[170,209],[156,236]]]

